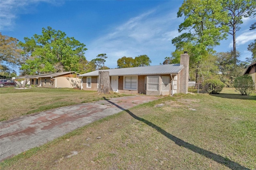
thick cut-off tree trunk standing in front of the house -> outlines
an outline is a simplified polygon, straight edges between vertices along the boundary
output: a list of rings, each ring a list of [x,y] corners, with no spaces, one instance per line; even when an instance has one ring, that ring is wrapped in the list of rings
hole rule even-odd
[[[99,71],[99,88],[98,93],[109,94],[112,90],[110,84],[109,71]]]

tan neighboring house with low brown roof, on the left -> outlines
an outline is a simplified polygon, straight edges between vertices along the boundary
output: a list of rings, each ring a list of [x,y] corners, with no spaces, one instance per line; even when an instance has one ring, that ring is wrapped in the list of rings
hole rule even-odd
[[[49,88],[80,88],[81,79],[74,71],[60,73],[44,73],[17,77],[16,79],[29,79],[30,85]]]

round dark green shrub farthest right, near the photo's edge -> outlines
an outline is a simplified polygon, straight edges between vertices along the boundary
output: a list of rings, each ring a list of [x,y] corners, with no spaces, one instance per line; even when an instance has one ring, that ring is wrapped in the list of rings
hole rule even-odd
[[[248,74],[236,77],[234,87],[235,91],[240,92],[241,95],[250,95],[254,88],[252,77]]]

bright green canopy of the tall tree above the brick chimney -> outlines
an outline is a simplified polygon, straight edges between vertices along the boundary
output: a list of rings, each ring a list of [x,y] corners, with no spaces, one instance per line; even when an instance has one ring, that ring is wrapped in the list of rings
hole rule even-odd
[[[195,62],[204,55],[213,53],[213,48],[220,45],[220,40],[227,37],[227,12],[223,11],[220,0],[186,0],[179,8],[178,17],[185,16],[178,31],[184,32],[174,38],[176,49],[192,49]],[[190,53],[190,55],[192,54]],[[192,56],[190,56],[192,57]]]

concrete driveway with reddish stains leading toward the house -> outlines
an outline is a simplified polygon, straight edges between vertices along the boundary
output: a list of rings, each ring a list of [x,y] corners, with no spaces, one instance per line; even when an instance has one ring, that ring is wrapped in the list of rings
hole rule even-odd
[[[51,109],[0,122],[0,162],[93,121],[159,98],[147,95],[118,97]]]

